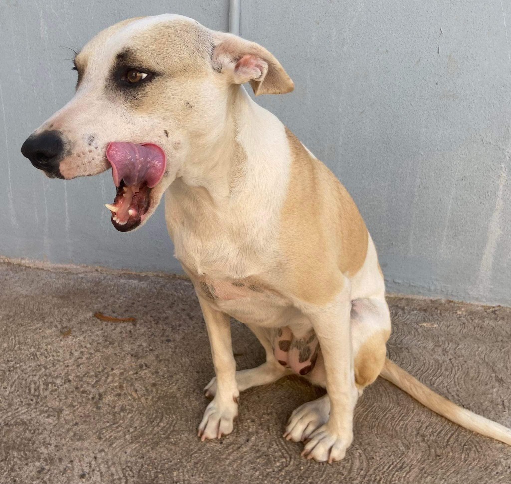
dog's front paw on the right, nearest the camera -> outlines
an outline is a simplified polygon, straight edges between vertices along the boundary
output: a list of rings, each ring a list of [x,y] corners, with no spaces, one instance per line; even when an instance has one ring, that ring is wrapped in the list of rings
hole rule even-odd
[[[353,441],[353,432],[338,432],[330,429],[329,424],[321,425],[312,432],[310,440],[301,453],[308,459],[329,463],[340,461],[346,455],[346,449]]]

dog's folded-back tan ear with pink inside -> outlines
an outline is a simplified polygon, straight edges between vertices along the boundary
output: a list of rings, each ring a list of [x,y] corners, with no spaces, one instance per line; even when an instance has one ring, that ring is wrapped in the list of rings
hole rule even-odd
[[[255,95],[285,94],[294,83],[284,67],[261,45],[231,34],[221,34],[212,57],[215,70],[230,84],[249,82]]]

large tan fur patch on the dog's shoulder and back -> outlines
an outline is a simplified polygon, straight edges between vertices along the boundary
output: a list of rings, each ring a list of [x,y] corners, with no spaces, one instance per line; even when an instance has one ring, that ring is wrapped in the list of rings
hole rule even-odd
[[[280,246],[287,285],[300,299],[324,304],[341,290],[340,273],[351,276],[362,267],[368,233],[337,178],[287,128],[286,133],[292,163]]]

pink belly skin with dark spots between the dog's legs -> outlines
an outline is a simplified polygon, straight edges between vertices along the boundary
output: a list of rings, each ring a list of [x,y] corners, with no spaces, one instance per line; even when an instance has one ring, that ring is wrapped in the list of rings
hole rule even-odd
[[[316,366],[319,342],[314,330],[296,338],[288,326],[274,330],[273,351],[278,362],[298,375],[307,375]]]

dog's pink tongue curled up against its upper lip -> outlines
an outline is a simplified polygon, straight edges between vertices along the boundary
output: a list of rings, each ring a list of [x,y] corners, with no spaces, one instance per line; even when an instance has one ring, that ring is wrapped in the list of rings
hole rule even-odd
[[[161,180],[167,165],[164,151],[153,143],[112,141],[106,149],[106,157],[112,165],[115,186],[124,180],[127,186],[146,182],[152,188]]]

